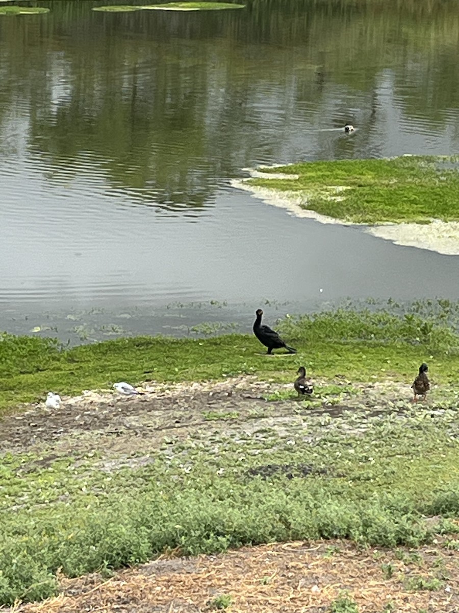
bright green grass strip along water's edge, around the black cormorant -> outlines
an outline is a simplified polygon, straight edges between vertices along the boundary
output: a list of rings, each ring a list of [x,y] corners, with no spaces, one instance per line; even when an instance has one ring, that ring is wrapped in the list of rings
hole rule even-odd
[[[79,394],[119,380],[173,383],[247,374],[290,381],[302,364],[313,376],[341,373],[360,381],[408,381],[425,360],[439,381],[455,376],[458,303],[427,300],[401,307],[389,301],[376,310],[371,306],[373,310],[356,310],[350,303],[277,322],[283,337],[298,349],[290,357],[265,356],[253,335],[242,334],[121,338],[69,349],[48,338],[5,333],[0,337],[0,409],[43,400],[48,390]]]

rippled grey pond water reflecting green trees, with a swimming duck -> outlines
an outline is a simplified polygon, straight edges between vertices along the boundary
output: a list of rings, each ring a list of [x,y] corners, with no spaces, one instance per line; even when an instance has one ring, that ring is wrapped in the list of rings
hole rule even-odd
[[[230,185],[257,164],[457,153],[455,2],[91,10],[115,3],[0,17],[0,329],[179,334],[248,329],[266,300],[272,322],[345,296],[459,298],[457,256]]]

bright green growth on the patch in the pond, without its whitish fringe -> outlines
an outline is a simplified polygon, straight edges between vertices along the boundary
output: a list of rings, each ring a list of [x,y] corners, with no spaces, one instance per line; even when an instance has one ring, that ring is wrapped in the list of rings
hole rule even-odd
[[[259,169],[297,178],[246,183],[300,197],[303,208],[353,223],[458,221],[457,164],[457,158],[435,156],[302,162]]]

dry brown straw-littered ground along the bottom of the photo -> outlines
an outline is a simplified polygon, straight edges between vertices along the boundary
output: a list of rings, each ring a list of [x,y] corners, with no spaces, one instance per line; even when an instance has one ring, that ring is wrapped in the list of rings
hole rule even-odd
[[[392,552],[360,550],[343,541],[277,543],[161,559],[105,581],[97,574],[62,578],[57,598],[8,611],[198,613],[211,611],[215,598],[229,595],[234,613],[325,613],[345,590],[360,613],[455,613],[458,562],[458,552],[440,547]],[[412,589],[419,577],[435,579],[437,588]]]

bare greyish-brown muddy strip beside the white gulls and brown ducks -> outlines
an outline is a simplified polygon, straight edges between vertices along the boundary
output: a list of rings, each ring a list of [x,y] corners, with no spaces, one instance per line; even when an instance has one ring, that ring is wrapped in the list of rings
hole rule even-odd
[[[332,383],[346,387],[341,378]],[[339,402],[323,398],[319,406],[312,406],[308,400],[296,402],[291,384],[260,382],[249,376],[175,386],[149,383],[142,388],[146,393],[137,397],[86,391],[78,397],[64,397],[59,409],[51,410],[40,403],[4,416],[0,452],[46,450],[48,460],[43,457],[40,461],[51,463],[55,454],[66,451],[99,450],[109,459],[132,451],[147,453],[159,448],[168,437],[175,441],[207,438],[212,432],[251,436],[264,428],[288,436],[291,430],[302,427],[305,417],[340,417],[347,410],[397,412],[397,403],[403,404],[410,395],[409,386],[390,382],[353,387],[353,394],[345,394]],[[291,397],[267,402],[267,394],[277,390],[288,396],[291,390]],[[356,424],[348,427],[355,428]]]

